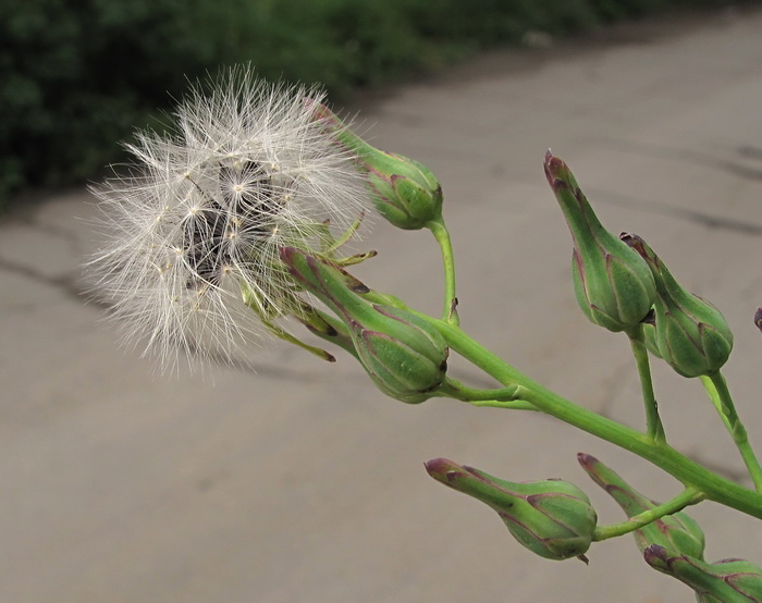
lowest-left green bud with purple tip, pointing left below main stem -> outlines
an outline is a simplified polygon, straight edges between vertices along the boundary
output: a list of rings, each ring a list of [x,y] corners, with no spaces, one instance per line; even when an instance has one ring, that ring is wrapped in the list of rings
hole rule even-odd
[[[497,512],[524,546],[548,559],[579,557],[590,547],[598,516],[585,492],[562,480],[514,483],[435,458],[426,470],[437,481]]]

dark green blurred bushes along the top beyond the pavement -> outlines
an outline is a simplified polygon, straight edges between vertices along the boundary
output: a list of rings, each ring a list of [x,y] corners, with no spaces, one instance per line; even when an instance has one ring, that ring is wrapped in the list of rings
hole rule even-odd
[[[26,187],[98,177],[118,140],[188,79],[250,62],[334,99],[530,29],[560,36],[724,0],[5,0],[0,2],[0,209]],[[164,118],[165,119],[165,118]]]

